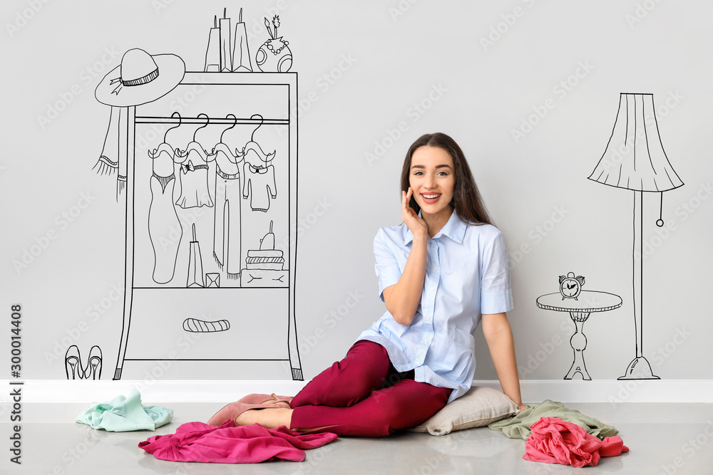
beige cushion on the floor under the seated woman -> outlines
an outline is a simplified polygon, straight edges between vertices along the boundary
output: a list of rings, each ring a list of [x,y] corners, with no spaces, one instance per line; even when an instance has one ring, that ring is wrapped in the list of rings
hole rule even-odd
[[[473,386],[457,400],[446,404],[431,419],[411,432],[430,432],[446,435],[448,432],[471,427],[483,427],[518,413],[519,407],[503,392],[492,387]]]

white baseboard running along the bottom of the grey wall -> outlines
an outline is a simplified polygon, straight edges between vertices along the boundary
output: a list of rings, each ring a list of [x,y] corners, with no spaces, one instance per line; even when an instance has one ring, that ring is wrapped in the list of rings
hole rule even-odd
[[[290,380],[0,380],[0,402],[12,402],[10,392],[21,388],[22,402],[101,402],[117,395],[141,392],[145,403],[227,402],[252,392],[292,396],[305,381]],[[473,385],[500,389],[492,380],[476,380]],[[713,403],[713,380],[522,380],[523,402],[707,402]]]

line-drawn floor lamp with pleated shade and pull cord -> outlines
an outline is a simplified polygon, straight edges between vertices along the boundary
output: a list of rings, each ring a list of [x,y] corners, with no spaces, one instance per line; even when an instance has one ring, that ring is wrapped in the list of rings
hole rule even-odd
[[[674,171],[661,143],[654,108],[654,96],[621,93],[619,111],[604,155],[589,179],[611,187],[634,192],[634,243],[632,251],[634,323],[636,356],[620,380],[658,380],[642,354],[642,285],[643,285],[643,194],[660,193],[659,219],[663,226],[663,192],[678,188],[683,182]]]

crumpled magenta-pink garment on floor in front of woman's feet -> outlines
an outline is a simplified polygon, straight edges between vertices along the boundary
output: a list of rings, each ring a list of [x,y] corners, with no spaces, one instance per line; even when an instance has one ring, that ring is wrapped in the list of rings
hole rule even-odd
[[[187,422],[175,434],[149,437],[138,447],[161,460],[254,464],[272,459],[302,461],[304,449],[322,447],[334,439],[337,434],[332,432],[302,434],[285,426],[237,426],[228,419],[220,427]]]

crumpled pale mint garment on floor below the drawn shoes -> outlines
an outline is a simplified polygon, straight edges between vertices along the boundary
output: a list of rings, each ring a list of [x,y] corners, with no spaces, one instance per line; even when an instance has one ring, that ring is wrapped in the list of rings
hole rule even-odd
[[[132,390],[129,397],[119,395],[109,402],[92,403],[76,417],[76,422],[92,429],[109,432],[155,430],[173,419],[173,410],[163,406],[141,404],[141,394]]]

